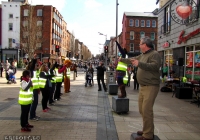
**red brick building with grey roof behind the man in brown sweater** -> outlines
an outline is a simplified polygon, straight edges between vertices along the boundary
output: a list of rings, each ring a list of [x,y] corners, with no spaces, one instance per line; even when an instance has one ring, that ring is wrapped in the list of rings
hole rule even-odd
[[[140,38],[149,36],[157,49],[157,15],[152,13],[125,12],[122,20],[122,34],[119,43],[127,49],[129,56],[140,52]]]

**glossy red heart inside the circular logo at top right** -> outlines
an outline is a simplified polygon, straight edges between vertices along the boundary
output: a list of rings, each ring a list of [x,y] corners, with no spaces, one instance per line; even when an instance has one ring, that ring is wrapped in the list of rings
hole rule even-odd
[[[176,12],[180,17],[182,17],[183,19],[186,19],[192,13],[192,6],[179,5],[176,7]]]

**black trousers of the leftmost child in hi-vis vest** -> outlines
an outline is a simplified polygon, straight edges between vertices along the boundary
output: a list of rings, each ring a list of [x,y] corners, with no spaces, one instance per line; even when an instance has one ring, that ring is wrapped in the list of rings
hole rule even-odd
[[[26,127],[28,123],[28,113],[30,111],[31,104],[29,105],[21,105],[21,117],[20,117],[20,123],[21,127]]]

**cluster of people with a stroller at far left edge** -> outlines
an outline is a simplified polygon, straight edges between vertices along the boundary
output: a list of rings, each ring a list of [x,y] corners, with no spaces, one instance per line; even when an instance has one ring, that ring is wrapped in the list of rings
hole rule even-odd
[[[3,61],[0,63],[0,76],[3,77],[3,71],[5,71],[5,78],[7,79],[7,83],[15,83],[15,74],[17,73],[17,62],[16,60],[12,61],[11,63],[6,60],[4,63]]]

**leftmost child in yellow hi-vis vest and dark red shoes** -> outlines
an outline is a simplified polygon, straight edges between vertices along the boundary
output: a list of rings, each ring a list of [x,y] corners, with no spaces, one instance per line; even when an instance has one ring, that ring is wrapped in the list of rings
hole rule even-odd
[[[18,103],[21,105],[21,132],[30,132],[30,128],[33,128],[33,125],[28,123],[28,113],[33,101],[33,89],[30,76],[30,71],[25,70],[21,77],[21,87],[18,100]]]

